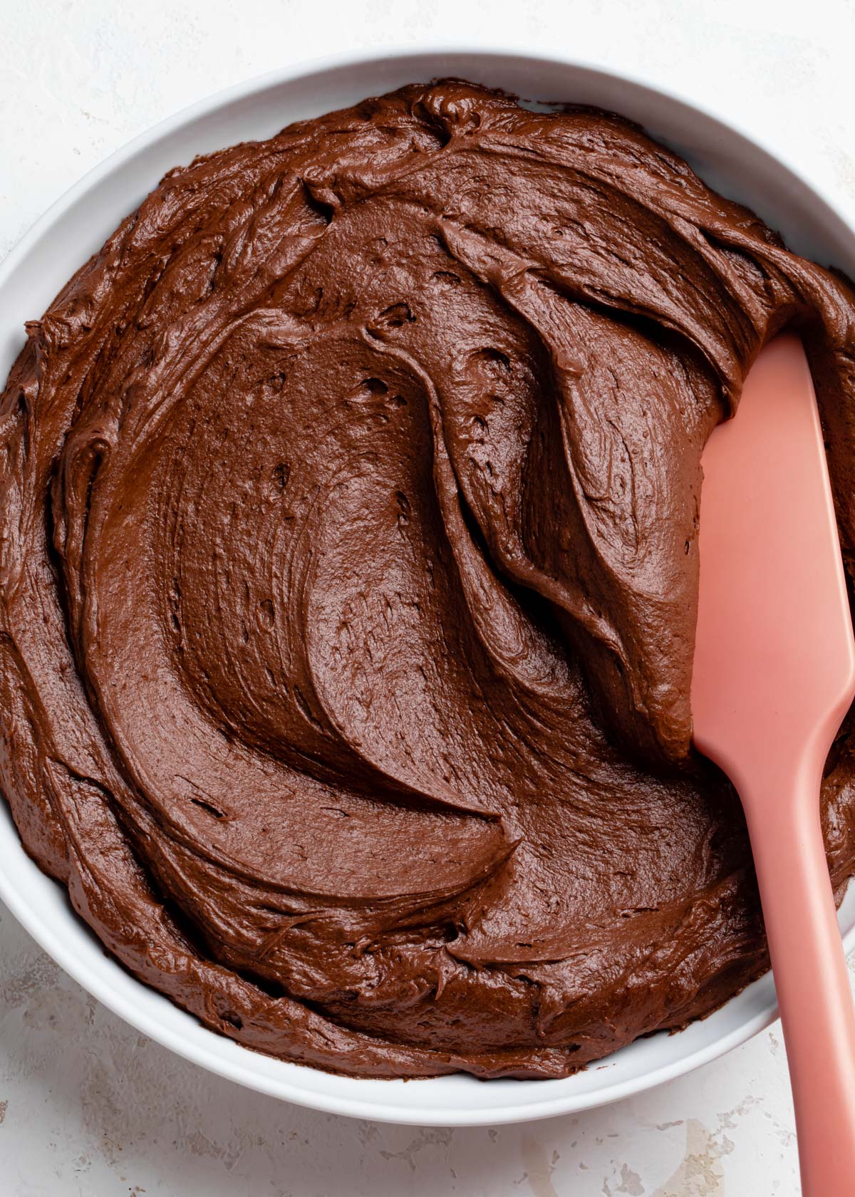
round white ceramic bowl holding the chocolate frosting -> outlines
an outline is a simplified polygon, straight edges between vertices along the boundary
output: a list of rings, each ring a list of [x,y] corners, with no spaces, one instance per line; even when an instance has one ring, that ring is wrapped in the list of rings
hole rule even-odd
[[[566,59],[513,51],[399,51],[354,55],[265,75],[205,99],[144,133],[62,196],[0,266],[0,376],[23,344],[23,323],[41,316],[60,286],[98,249],[171,166],[291,121],[320,115],[405,83],[456,75],[526,99],[572,101],[621,113],[683,153],[724,195],[777,227],[792,248],[855,275],[855,232],[804,180],[735,129],[665,92]],[[384,1122],[483,1125],[545,1118],[604,1105],[687,1073],[744,1043],[776,1016],[770,977],[703,1022],[657,1034],[562,1081],[445,1076],[374,1081],[331,1076],[269,1059],[202,1027],[109,959],[74,915],[65,891],[24,853],[0,801],[0,895],[66,972],[139,1031],[178,1055],[277,1098]],[[855,887],[842,910],[855,947]]]

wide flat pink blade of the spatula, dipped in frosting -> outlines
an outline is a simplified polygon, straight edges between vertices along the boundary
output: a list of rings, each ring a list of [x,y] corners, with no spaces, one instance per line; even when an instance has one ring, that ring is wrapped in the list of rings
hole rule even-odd
[[[698,748],[735,780],[757,746],[826,748],[855,692],[855,644],[823,431],[801,341],[771,341],[702,458],[692,678]]]

